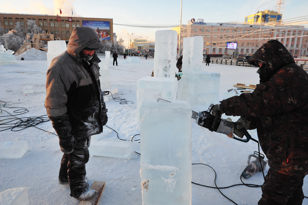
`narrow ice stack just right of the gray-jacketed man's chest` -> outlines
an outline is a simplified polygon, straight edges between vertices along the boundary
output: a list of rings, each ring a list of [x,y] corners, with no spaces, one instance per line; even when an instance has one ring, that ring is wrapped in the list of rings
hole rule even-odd
[[[108,70],[108,58],[107,58],[107,55],[109,55],[110,59],[110,51],[105,51],[105,53],[106,53],[106,58],[101,59],[101,62],[98,64],[100,68],[99,71],[100,88],[102,89],[102,91],[111,88],[111,72],[110,70]]]

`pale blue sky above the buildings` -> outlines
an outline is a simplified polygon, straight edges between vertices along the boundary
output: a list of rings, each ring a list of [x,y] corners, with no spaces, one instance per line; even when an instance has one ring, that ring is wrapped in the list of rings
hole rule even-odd
[[[204,22],[244,22],[245,16],[258,10],[274,10],[277,0],[183,0],[182,24],[191,18],[202,18]],[[84,17],[113,18],[114,23],[123,24],[180,24],[180,0],[150,1],[106,1],[106,0],[3,0],[0,2],[0,13],[24,14],[59,14]],[[307,0],[285,0],[284,19],[308,15]],[[114,25],[118,38],[122,37],[128,44],[132,38],[148,37],[155,40],[157,28],[135,28]],[[169,28],[164,28],[169,29]],[[162,29],[160,29],[162,30]]]

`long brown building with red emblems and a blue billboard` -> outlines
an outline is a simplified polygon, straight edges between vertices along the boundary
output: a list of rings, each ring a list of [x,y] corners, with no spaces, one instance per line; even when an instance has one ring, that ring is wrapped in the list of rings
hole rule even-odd
[[[75,27],[90,26],[103,40],[114,41],[114,37],[111,35],[113,34],[112,18],[0,13],[0,26],[5,29],[6,33],[14,29],[19,21],[26,34],[27,20],[35,20],[36,25],[44,33],[53,34],[55,39],[69,40]]]

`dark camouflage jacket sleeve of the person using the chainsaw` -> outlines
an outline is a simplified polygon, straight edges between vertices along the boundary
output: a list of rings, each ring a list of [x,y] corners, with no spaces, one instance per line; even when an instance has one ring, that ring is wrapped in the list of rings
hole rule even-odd
[[[273,116],[297,109],[306,104],[306,92],[288,69],[272,76],[265,83],[258,84],[252,93],[233,96],[221,102],[226,115],[245,118]]]

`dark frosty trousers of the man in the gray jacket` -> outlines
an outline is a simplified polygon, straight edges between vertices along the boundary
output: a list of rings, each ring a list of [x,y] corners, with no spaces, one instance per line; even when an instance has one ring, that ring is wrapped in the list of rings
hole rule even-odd
[[[86,177],[86,163],[89,161],[89,150],[91,137],[76,139],[74,151],[63,154],[59,172],[59,180],[69,182],[71,196],[78,197],[89,189]]]

